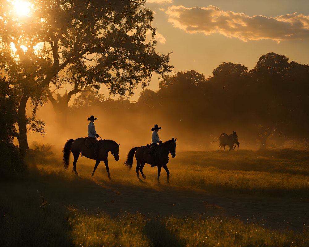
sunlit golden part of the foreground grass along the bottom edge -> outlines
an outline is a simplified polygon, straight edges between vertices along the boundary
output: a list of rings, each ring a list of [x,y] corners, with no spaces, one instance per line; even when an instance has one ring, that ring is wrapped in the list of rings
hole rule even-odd
[[[307,246],[307,232],[278,232],[224,217],[76,216],[78,246]]]

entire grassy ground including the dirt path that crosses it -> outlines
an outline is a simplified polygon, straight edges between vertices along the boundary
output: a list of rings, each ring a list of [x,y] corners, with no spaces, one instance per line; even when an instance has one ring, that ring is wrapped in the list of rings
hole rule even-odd
[[[72,156],[71,156],[72,158]],[[110,157],[37,152],[36,168],[0,182],[0,246],[309,246],[309,151],[178,152],[170,183],[146,182]]]

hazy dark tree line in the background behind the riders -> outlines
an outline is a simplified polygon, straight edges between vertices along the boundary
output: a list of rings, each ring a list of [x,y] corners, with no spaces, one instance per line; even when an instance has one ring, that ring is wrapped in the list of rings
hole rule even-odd
[[[75,121],[82,112],[98,113],[104,128],[125,129],[122,134],[139,142],[150,141],[149,128],[156,123],[164,125],[161,135],[167,138],[181,135],[188,149],[207,149],[222,132],[234,130],[241,144],[266,148],[272,136],[276,147],[286,141],[308,147],[308,78],[309,65],[268,53],[250,71],[222,63],[208,78],[194,70],[164,76],[158,91],[142,91],[137,102],[86,90],[70,113]]]

